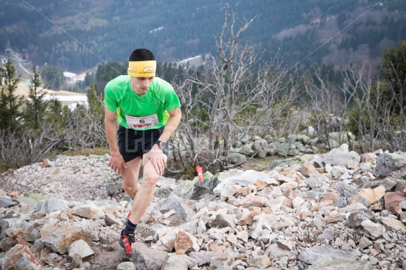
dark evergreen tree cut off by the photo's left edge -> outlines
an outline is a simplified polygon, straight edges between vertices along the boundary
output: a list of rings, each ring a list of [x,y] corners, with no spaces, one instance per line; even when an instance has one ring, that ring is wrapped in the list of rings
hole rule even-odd
[[[0,67],[0,130],[17,127],[18,118],[21,116],[19,107],[23,103],[23,97],[15,95],[20,78],[13,62],[7,58],[3,67]]]

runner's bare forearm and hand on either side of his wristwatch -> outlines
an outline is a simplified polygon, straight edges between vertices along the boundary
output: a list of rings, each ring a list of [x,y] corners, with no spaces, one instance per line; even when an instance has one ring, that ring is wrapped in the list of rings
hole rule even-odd
[[[168,111],[168,113],[169,119],[164,127],[164,132],[162,132],[161,136],[159,136],[159,141],[168,141],[182,119],[180,108]],[[153,145],[150,152],[144,154],[143,164],[146,164],[148,160],[153,163],[153,166],[159,175],[164,173],[166,168],[166,155],[162,152],[162,149],[159,148],[157,144]]]

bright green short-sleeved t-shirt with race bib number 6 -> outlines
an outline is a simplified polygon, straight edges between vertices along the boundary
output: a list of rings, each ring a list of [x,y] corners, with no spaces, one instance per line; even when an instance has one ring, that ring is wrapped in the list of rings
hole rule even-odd
[[[145,95],[139,97],[130,88],[127,75],[112,79],[104,88],[104,105],[116,111],[123,127],[145,130],[164,127],[168,111],[180,108],[178,96],[168,82],[155,77]]]

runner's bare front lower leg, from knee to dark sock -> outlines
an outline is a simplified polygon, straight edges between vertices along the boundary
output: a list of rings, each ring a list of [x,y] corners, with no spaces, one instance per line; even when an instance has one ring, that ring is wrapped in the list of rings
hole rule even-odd
[[[143,180],[141,188],[136,193],[131,206],[130,221],[132,223],[139,223],[141,217],[148,208],[150,201],[153,199],[155,185],[157,184],[158,178],[159,174],[155,170],[153,164],[150,161],[147,161],[147,163],[143,165]]]

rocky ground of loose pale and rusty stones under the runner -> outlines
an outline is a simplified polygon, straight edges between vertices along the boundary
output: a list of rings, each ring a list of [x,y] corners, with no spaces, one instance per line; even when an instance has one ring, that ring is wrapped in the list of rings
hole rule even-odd
[[[344,144],[203,183],[161,177],[131,262],[130,198],[108,159],[1,175],[0,269],[406,269],[406,153]]]

